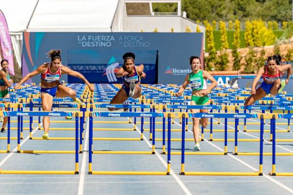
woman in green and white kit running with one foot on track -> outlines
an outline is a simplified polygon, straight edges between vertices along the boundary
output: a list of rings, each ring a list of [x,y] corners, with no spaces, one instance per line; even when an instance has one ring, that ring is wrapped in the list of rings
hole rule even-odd
[[[186,75],[186,78],[180,87],[176,96],[181,96],[185,88],[190,85],[192,89],[192,97],[190,105],[206,105],[209,103],[208,93],[215,86],[217,86],[217,81],[205,70],[201,70],[201,61],[200,58],[196,56],[190,57],[190,65],[192,72]],[[207,86],[207,79],[211,81],[209,87]],[[207,113],[207,109],[191,109],[192,113]],[[193,120],[193,136],[195,141],[194,150],[199,151],[199,118],[192,118]],[[202,118],[200,121],[203,127],[207,127],[208,118]]]

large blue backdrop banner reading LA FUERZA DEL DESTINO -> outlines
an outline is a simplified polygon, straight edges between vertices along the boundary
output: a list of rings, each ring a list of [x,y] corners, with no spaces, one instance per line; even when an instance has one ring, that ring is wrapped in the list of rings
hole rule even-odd
[[[203,60],[202,33],[55,33],[24,32],[22,75],[50,61],[45,53],[62,51],[62,64],[78,71],[92,83],[121,83],[115,71],[126,52],[136,55],[135,64],[145,65],[142,83],[182,83],[190,70],[189,57]],[[67,82],[82,82],[62,76]],[[41,78],[32,78],[39,83]]]

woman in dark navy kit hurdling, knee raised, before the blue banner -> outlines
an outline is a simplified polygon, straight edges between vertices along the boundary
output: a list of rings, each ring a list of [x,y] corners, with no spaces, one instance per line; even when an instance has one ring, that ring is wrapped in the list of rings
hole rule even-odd
[[[124,64],[116,72],[116,77],[122,77],[123,85],[116,96],[111,100],[110,104],[122,104],[127,98],[139,98],[142,90],[139,86],[141,78],[146,78],[144,73],[144,65],[134,65],[135,55],[126,53],[123,55]],[[109,111],[119,110],[117,108],[108,108]],[[127,110],[127,109],[125,109]]]

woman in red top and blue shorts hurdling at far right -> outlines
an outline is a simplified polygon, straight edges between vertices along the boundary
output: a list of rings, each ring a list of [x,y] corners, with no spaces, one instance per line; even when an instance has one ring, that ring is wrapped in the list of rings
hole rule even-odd
[[[266,95],[273,96],[281,93],[283,88],[289,82],[291,75],[291,64],[279,66],[281,57],[274,55],[268,57],[267,64],[261,67],[256,77],[254,78],[251,86],[251,96],[245,101],[244,105],[252,105],[255,101],[264,98]],[[280,72],[287,70],[287,79],[280,81]],[[255,91],[257,81],[263,77],[263,82]]]

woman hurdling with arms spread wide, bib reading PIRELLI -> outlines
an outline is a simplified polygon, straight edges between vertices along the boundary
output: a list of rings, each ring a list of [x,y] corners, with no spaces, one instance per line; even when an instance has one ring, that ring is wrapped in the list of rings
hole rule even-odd
[[[61,75],[68,74],[73,77],[82,79],[88,86],[90,91],[94,91],[93,86],[87,81],[86,78],[79,72],[73,71],[67,66],[61,64],[61,51],[51,50],[48,52],[51,62],[44,63],[39,66],[35,71],[27,74],[21,81],[15,86],[15,89],[20,88],[21,84],[28,79],[41,74],[41,98],[42,98],[42,110],[51,111],[53,104],[53,97],[64,98],[70,97],[80,104],[84,104],[79,98],[76,98],[76,92],[70,87],[63,86],[59,79]],[[50,117],[43,117],[44,134],[43,139],[49,139],[49,126]]]

